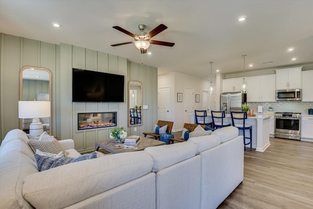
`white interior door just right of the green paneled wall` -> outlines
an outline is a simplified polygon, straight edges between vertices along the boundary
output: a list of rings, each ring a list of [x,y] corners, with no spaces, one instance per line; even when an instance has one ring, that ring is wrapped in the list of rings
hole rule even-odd
[[[170,87],[158,89],[158,119],[170,119]]]

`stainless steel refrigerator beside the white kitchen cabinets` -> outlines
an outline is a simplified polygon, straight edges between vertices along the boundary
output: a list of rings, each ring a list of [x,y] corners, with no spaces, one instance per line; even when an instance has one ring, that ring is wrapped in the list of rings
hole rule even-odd
[[[246,93],[221,93],[221,111],[230,114],[231,111],[242,111],[241,105],[246,102]]]

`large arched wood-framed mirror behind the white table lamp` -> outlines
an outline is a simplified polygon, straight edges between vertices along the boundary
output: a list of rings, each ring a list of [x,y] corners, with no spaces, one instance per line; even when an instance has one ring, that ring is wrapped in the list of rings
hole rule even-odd
[[[46,68],[25,66],[20,70],[20,101],[50,101],[50,117],[39,118],[52,135],[52,73]],[[31,118],[20,118],[20,129],[28,133]]]

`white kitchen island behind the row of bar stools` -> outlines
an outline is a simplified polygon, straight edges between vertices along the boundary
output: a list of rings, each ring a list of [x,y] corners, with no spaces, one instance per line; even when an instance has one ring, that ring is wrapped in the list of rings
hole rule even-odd
[[[190,114],[191,123],[196,123],[195,114]],[[252,148],[255,148],[258,152],[264,152],[269,143],[269,118],[271,115],[257,115],[257,116],[248,116],[246,123],[252,125]],[[212,121],[211,114],[208,113],[207,121]],[[205,120],[206,120],[205,119]],[[230,114],[225,114],[224,121],[228,121],[231,124]],[[243,135],[242,131],[239,130],[239,135]],[[249,136],[249,131],[246,130],[246,136]],[[249,140],[249,139],[246,139]],[[250,147],[250,144],[246,145]]]

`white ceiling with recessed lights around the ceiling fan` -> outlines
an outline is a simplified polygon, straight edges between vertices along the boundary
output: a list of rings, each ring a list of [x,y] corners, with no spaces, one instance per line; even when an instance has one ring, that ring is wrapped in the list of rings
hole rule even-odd
[[[175,46],[151,45],[143,57],[133,44],[110,46],[134,40],[112,26],[136,33],[138,24],[149,32],[160,23],[168,28],[152,40]],[[210,61],[213,71],[242,72],[243,54],[246,71],[313,64],[313,0],[0,0],[0,32],[204,78]]]

